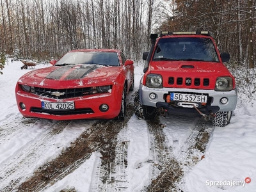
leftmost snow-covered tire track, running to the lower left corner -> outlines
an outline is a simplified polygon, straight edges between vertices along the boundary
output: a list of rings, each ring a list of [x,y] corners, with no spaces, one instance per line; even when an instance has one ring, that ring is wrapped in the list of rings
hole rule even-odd
[[[40,120],[43,124],[49,124],[48,120]],[[42,158],[37,152],[44,151],[47,153],[48,147],[46,143],[51,142],[52,135],[58,134],[70,121],[60,121],[50,125],[41,132],[36,138],[29,141],[24,147],[20,148],[19,152],[8,158],[0,165],[1,179],[0,182],[8,184],[7,186],[0,186],[0,191],[12,191],[22,180],[29,175],[28,167],[36,166],[36,163]],[[32,127],[33,128],[33,127]]]

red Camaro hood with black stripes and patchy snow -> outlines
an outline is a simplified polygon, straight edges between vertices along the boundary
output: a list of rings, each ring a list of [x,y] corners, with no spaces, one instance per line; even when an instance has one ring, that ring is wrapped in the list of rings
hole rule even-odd
[[[20,77],[19,82],[31,86],[68,88],[74,86],[113,84],[122,67],[102,65],[65,65],[41,68]]]

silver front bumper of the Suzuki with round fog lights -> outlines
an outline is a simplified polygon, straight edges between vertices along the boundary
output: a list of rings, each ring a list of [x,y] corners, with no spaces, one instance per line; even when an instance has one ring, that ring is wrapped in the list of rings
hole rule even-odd
[[[156,97],[152,99],[150,94],[154,93]],[[170,93],[188,93],[188,94],[204,94],[207,95],[209,102],[198,108],[202,113],[209,115],[209,113],[216,113],[217,111],[234,111],[237,104],[237,90],[230,92],[216,92],[215,90],[195,90],[188,88],[148,88],[140,84],[140,101],[145,106],[152,106],[155,108],[164,108],[169,113],[190,113],[196,112],[194,108],[173,107],[166,102],[166,95]],[[227,102],[223,104],[221,99],[225,98]]]

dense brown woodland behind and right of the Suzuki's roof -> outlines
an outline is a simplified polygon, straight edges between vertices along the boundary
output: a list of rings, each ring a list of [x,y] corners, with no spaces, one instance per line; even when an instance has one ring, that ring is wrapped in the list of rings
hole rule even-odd
[[[256,49],[256,45],[253,44],[256,38],[253,33],[255,1],[175,0],[174,2],[175,12],[173,15],[168,15],[159,29],[210,31],[218,48],[230,52],[231,60],[244,63],[249,58],[253,62],[255,57],[253,50]],[[173,7],[173,4],[171,5]]]

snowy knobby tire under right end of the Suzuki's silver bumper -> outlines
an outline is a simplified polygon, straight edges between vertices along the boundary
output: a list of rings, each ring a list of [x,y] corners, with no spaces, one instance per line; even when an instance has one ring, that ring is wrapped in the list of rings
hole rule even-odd
[[[218,111],[212,120],[212,124],[218,127],[225,127],[230,123],[232,111]]]

